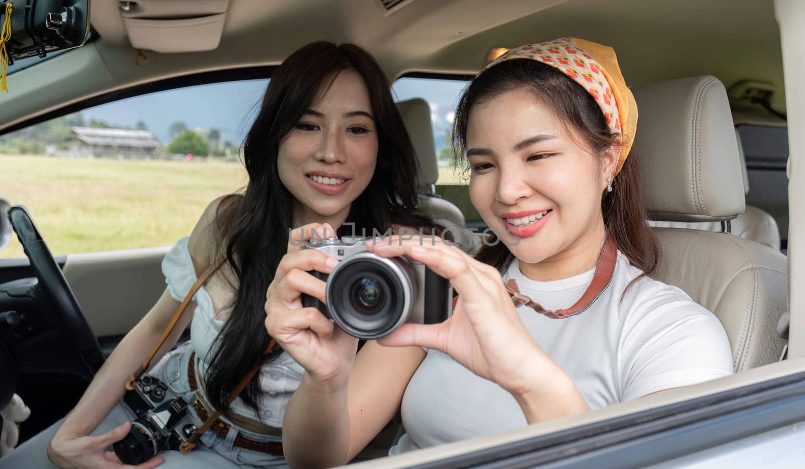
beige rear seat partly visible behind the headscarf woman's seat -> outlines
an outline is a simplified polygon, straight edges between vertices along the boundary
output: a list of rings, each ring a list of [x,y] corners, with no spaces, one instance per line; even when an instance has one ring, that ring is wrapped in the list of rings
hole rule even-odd
[[[744,194],[749,194],[749,172],[746,170],[746,159],[743,146],[741,145],[741,135],[735,131],[738,144],[738,154],[741,157],[741,172],[744,178]],[[650,220],[652,226],[663,228],[691,228],[703,231],[720,232],[724,228],[721,222],[700,221],[695,223],[684,223],[681,221],[656,221]],[[730,221],[729,232],[737,237],[746,240],[756,241],[762,245],[769,246],[776,251],[780,250],[780,228],[777,221],[769,212],[762,208],[746,205],[744,212]]]

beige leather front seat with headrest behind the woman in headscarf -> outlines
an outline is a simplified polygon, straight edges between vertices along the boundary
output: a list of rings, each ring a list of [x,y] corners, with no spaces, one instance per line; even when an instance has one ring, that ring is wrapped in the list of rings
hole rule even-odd
[[[650,218],[719,223],[744,212],[741,161],[724,85],[697,76],[633,88]],[[617,184],[615,187],[617,191]],[[722,232],[654,228],[654,278],[679,286],[724,325],[736,371],[777,361],[787,309],[786,257]]]

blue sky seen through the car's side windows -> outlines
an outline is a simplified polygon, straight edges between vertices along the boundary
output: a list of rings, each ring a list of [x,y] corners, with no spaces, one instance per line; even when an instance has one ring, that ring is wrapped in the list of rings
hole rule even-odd
[[[134,126],[142,120],[163,143],[170,141],[168,127],[175,121],[184,121],[191,129],[218,127],[225,139],[240,143],[254,120],[267,83],[268,80],[246,80],[172,89],[85,109],[84,115],[123,126]],[[463,81],[401,78],[393,90],[398,101],[422,97],[428,102],[439,148],[444,145],[464,86]]]

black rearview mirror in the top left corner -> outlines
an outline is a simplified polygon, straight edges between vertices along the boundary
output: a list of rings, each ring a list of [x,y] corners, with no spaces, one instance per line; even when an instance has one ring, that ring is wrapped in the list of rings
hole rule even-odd
[[[0,21],[11,3],[10,63],[83,46],[89,37],[89,0],[0,0]]]

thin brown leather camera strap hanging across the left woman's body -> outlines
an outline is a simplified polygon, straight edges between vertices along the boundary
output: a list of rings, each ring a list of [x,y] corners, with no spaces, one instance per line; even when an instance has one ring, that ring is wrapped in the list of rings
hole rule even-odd
[[[151,360],[154,359],[156,353],[159,352],[159,348],[161,348],[165,343],[165,340],[167,340],[167,336],[171,335],[171,332],[176,327],[176,324],[179,323],[179,319],[182,317],[182,315],[184,315],[184,311],[187,310],[188,304],[190,304],[190,302],[192,301],[193,295],[196,294],[196,291],[198,291],[198,289],[202,285],[204,285],[205,282],[207,282],[208,278],[210,278],[210,276],[213,275],[213,273],[215,273],[215,271],[219,269],[221,265],[224,264],[224,261],[225,260],[221,260],[217,264],[212,265],[209,269],[205,270],[204,274],[201,274],[201,276],[196,280],[196,283],[193,284],[193,286],[190,288],[190,291],[188,291],[188,294],[184,297],[184,301],[182,301],[179,307],[176,308],[176,311],[175,313],[173,313],[173,317],[171,318],[171,322],[167,324],[167,327],[165,327],[162,336],[159,338],[159,340],[157,340],[157,343],[154,345],[154,348],[151,349],[151,352],[148,354],[148,356],[142,362],[139,368],[137,368],[137,370],[134,371],[134,373],[132,373],[131,376],[129,376],[129,380],[126,381],[127,390],[129,391],[133,390],[134,382],[137,381],[140,376],[142,376],[142,373],[147,372],[148,368],[151,368]],[[263,352],[263,355],[268,355],[268,353],[271,352],[271,350],[275,347],[276,344],[277,343],[275,339],[271,339],[270,343],[268,344],[268,347],[266,347],[265,352]],[[249,381],[251,381],[252,377],[254,377],[254,374],[257,373],[258,370],[260,369],[260,366],[261,364],[254,365],[254,367],[250,369],[248,373],[246,373],[246,376],[243,376],[243,379],[237,384],[237,386],[235,386],[232,392],[229,393],[229,397],[226,398],[227,406],[232,404],[232,401],[235,400],[235,397],[237,397],[242,392],[242,390],[246,388],[246,385],[249,384]],[[188,441],[182,442],[180,446],[180,451],[183,454],[187,454],[193,448],[195,448],[199,438],[201,438],[201,435],[204,434],[205,431],[209,430],[209,428],[213,426],[213,424],[215,424],[215,422],[218,420],[219,417],[221,417],[221,411],[215,410],[215,412],[213,412],[207,418],[207,420],[204,421],[204,424],[199,428],[197,428],[196,431],[190,436],[190,438],[188,438]]]

